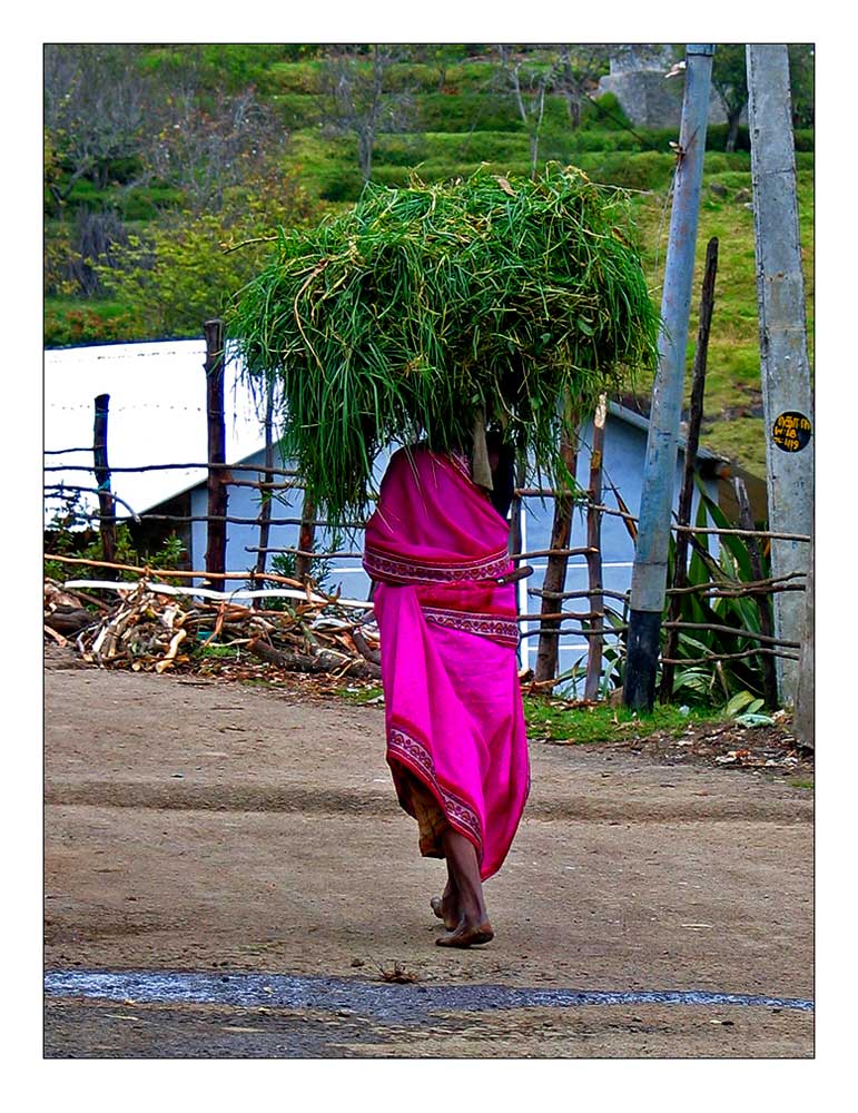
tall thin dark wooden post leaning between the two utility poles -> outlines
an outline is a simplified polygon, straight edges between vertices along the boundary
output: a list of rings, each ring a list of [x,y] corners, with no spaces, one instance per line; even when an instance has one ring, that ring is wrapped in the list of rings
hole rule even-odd
[[[682,472],[682,487],[679,492],[679,505],[677,518],[680,525],[691,523],[691,502],[694,495],[694,464],[697,463],[697,451],[700,444],[700,425],[703,420],[703,394],[706,392],[706,370],[707,356],[709,354],[709,332],[712,325],[712,311],[714,308],[714,283],[718,274],[718,239],[713,236],[707,244],[706,266],[703,270],[703,288],[700,297],[700,323],[697,333],[697,348],[694,349],[694,370],[691,380],[691,401],[688,414],[688,434],[686,437],[686,462]],[[677,534],[677,544],[673,560],[673,587],[684,588],[688,582],[688,533]],[[759,579],[759,577],[758,577]],[[673,595],[668,607],[668,619],[675,621],[682,609],[682,602],[678,595]],[[662,658],[668,658],[668,663],[662,661],[661,687],[659,699],[662,703],[669,703],[673,696],[673,670],[670,659],[677,656],[679,644],[679,631],[675,628],[669,629]]]

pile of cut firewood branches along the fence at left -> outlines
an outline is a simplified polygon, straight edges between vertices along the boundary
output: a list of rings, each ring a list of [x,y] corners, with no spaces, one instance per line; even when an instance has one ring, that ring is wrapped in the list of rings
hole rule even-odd
[[[377,638],[354,612],[342,612],[336,595],[315,588],[306,600],[285,600],[282,610],[209,602],[145,579],[117,591],[116,601],[105,603],[46,580],[46,637],[73,644],[88,663],[134,672],[193,668],[206,649],[219,647],[299,672],[381,676]]]

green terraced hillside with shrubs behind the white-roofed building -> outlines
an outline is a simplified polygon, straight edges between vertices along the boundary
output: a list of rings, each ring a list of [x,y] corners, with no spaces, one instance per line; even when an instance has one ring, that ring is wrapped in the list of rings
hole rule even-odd
[[[516,55],[520,76],[526,73],[531,82],[522,93],[525,109],[533,110],[526,120],[513,95],[511,71],[489,47],[413,47],[400,53],[411,57],[386,66],[376,105],[369,145],[373,180],[398,186],[416,174],[438,181],[471,174],[482,164],[503,175],[531,173],[538,82],[554,60],[551,51]],[[48,346],[199,335],[203,319],[221,312],[225,299],[259,268],[278,224],[309,227],[352,204],[363,186],[357,131],[343,122],[345,112],[331,92],[332,65],[322,48],[136,48],[122,65],[122,80],[134,85],[128,79],[132,66],[150,107],[136,138],[100,161],[92,159],[82,171],[82,144],[76,147],[73,129],[86,130],[83,114],[97,110],[97,98],[90,97],[90,107],[69,120],[61,101],[49,96],[49,109],[56,105],[56,111],[47,112],[46,135]],[[591,58],[580,63],[578,80],[585,93],[576,121],[571,86],[559,78],[545,82],[536,165],[572,164],[605,187],[628,190],[630,227],[658,304],[674,166],[669,145],[675,131],[633,127],[614,98],[594,100],[599,71]],[[194,107],[176,116],[177,87],[186,90],[181,104],[189,102],[188,73]],[[361,107],[373,76],[372,58],[341,73],[352,81],[353,102]],[[49,80],[61,89],[59,63],[56,73],[49,68]],[[248,127],[256,128],[252,142],[229,130],[227,108],[234,119],[243,106]],[[343,126],[336,129],[338,111]],[[726,139],[726,126],[710,127],[697,250],[701,272],[706,243],[718,236],[703,443],[762,474],[747,129],[740,128],[732,152],[724,151]],[[812,130],[798,130],[796,145],[812,343]],[[217,158],[219,162],[213,161]],[[238,248],[243,243],[247,246]],[[694,305],[700,280],[698,274]],[[689,364],[696,333],[694,313]],[[644,398],[649,387],[630,384]]]

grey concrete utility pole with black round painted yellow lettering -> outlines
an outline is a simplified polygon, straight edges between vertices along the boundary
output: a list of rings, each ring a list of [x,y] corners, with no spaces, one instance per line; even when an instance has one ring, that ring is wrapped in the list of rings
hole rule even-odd
[[[789,57],[786,43],[749,43],[746,53],[769,528],[775,533],[810,534],[813,403],[798,232]],[[772,575],[807,572],[809,563],[807,543],[772,541]],[[778,592],[775,636],[802,641],[805,611],[800,592]],[[798,683],[797,662],[777,658],[777,663],[780,699],[792,703]]]

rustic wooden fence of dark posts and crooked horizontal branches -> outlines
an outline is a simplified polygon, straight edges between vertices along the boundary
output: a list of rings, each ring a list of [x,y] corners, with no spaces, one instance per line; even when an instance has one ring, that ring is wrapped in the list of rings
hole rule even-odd
[[[272,442],[272,407],[270,402],[267,407],[265,422],[266,430],[266,455],[264,465],[231,464],[225,459],[224,452],[224,376],[223,376],[223,333],[218,327],[219,323],[208,322],[206,324],[207,359],[206,359],[206,411],[208,422],[208,459],[203,463],[170,463],[170,464],[141,464],[136,467],[110,469],[108,463],[108,418],[109,397],[99,395],[95,400],[95,425],[93,443],[91,451],[93,454],[92,472],[95,485],[80,485],[67,483],[62,477],[59,482],[46,482],[46,496],[62,498],[80,493],[98,494],[98,512],[89,513],[92,522],[98,522],[98,528],[102,542],[102,553],[105,556],[106,578],[114,575],[116,569],[110,569],[115,563],[116,553],[116,523],[119,518],[117,508],[122,506],[137,522],[171,523],[174,525],[190,524],[194,522],[205,522],[207,524],[207,548],[205,556],[205,569],[196,572],[184,570],[159,570],[160,577],[196,577],[204,579],[208,588],[213,589],[226,581],[243,579],[249,585],[259,587],[266,581],[270,583],[282,579],[267,571],[267,558],[272,553],[290,553],[295,556],[296,579],[302,582],[309,582],[310,562],[319,558],[324,559],[359,559],[362,553],[353,550],[318,550],[315,544],[316,530],[320,526],[334,529],[346,528],[359,530],[361,522],[332,523],[316,516],[316,510],[308,494],[305,492],[303,508],[299,518],[277,518],[273,515],[273,504],[277,498],[277,492],[288,490],[303,490],[300,476],[288,469],[274,466],[273,442]],[[538,638],[539,648],[534,668],[534,686],[551,688],[558,681],[558,659],[559,640],[565,634],[575,634],[586,640],[586,668],[584,680],[584,696],[588,699],[596,698],[603,677],[603,660],[606,649],[611,649],[615,657],[622,658],[624,647],[624,634],[627,632],[627,614],[629,605],[629,592],[617,592],[608,590],[602,578],[602,553],[601,553],[601,523],[605,515],[619,516],[628,530],[632,541],[637,538],[637,519],[623,504],[619,492],[614,491],[617,506],[605,504],[602,494],[602,437],[604,435],[604,400],[599,407],[594,421],[594,436],[591,446],[590,475],[586,491],[570,492],[568,490],[554,491],[545,489],[526,487],[523,484],[523,475],[519,473],[517,486],[513,501],[512,529],[510,533],[511,559],[516,565],[525,564],[530,560],[546,558],[546,570],[542,588],[531,588],[527,597],[539,603],[538,610],[523,608],[519,614],[522,624],[530,624],[531,628],[523,631],[525,638]],[[702,371],[699,362],[696,367],[696,383],[692,388],[692,410],[690,415],[689,447],[686,451],[686,471],[680,491],[679,510],[677,522],[674,523],[675,553],[674,574],[671,585],[668,589],[668,610],[664,620],[665,640],[662,656],[662,699],[669,698],[672,691],[673,670],[679,667],[688,667],[694,663],[714,663],[718,661],[743,659],[750,656],[759,656],[765,669],[766,699],[769,706],[776,706],[777,683],[773,671],[773,658],[785,657],[791,660],[798,659],[799,644],[785,641],[775,637],[771,628],[771,597],[778,591],[803,591],[803,578],[800,573],[782,577],[779,580],[766,578],[762,574],[762,556],[760,544],[765,544],[772,539],[785,539],[799,542],[809,542],[809,536],[772,533],[753,528],[748,511],[747,494],[740,481],[734,481],[737,498],[742,509],[741,525],[730,529],[701,528],[690,524],[691,493],[694,482],[693,463],[694,452],[691,451],[692,443],[696,444],[702,415]],[[80,449],[55,450],[50,456],[61,456],[65,452],[80,452]],[[562,452],[566,466],[574,474],[574,463],[576,446],[571,443],[562,445]],[[207,474],[208,505],[204,515],[191,514],[168,514],[147,513],[136,514],[127,503],[124,503],[111,490],[111,475],[117,472],[147,472],[170,469],[205,469]],[[80,472],[80,465],[70,464],[46,464],[46,474],[62,476],[63,473]],[[257,477],[249,477],[246,473],[252,473]],[[259,492],[259,513],[255,519],[238,518],[229,514],[229,489],[250,487]],[[516,529],[520,520],[519,515],[526,499],[551,499],[554,502],[554,519],[551,533],[551,543],[548,549],[526,551],[521,548],[521,532]],[[586,515],[586,544],[579,548],[570,548],[571,521],[575,508],[581,508]],[[226,526],[228,523],[243,525],[257,525],[259,531],[258,545],[247,548],[248,553],[254,554],[255,565],[248,571],[229,571],[226,568]],[[276,548],[270,544],[270,531],[277,525],[298,526],[298,541],[296,545]],[[755,579],[752,581],[728,580],[718,577],[709,582],[689,584],[687,579],[687,554],[689,549],[701,549],[701,538],[709,535],[732,535],[741,538],[748,544],[749,555],[752,562]],[[79,559],[69,558],[63,553],[48,552],[46,549],[46,560],[50,559],[59,562],[80,563]],[[566,571],[571,556],[583,556],[588,568],[588,587],[578,591],[566,591]],[[88,562],[92,563],[92,562]],[[719,598],[749,598],[752,599],[759,609],[760,630],[739,629],[731,626],[718,627],[711,623],[700,624],[682,621],[679,618],[682,597],[697,593],[701,599]],[[564,609],[563,604],[569,600],[584,600],[584,609]],[[369,610],[372,603],[366,601]],[[744,644],[734,651],[721,651],[716,653],[703,653],[699,658],[688,658],[678,656],[679,636],[682,631],[696,631],[709,629],[734,637]],[[753,642],[756,648],[747,648],[747,642]]]

